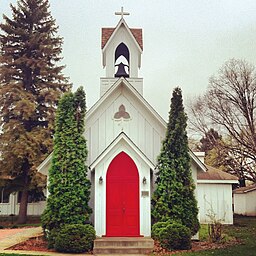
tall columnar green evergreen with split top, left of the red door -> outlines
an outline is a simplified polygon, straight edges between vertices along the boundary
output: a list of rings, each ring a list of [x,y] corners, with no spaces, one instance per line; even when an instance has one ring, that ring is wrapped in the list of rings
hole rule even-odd
[[[49,197],[42,226],[54,233],[65,224],[85,224],[91,208],[91,183],[87,178],[87,146],[83,136],[85,93],[79,88],[60,100],[57,109],[54,150],[49,170]],[[53,242],[54,243],[54,242]]]

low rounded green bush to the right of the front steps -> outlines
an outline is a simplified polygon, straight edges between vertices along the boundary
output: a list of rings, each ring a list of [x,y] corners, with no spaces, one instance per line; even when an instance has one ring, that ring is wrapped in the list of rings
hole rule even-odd
[[[159,232],[159,241],[168,250],[187,250],[191,248],[191,231],[180,223],[171,223]]]

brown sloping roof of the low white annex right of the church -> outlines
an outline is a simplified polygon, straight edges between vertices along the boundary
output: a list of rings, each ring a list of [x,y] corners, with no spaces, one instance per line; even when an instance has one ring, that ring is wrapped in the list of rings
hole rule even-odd
[[[198,172],[197,173],[197,179],[198,180],[218,180],[218,181],[235,181],[237,182],[238,178],[234,175],[231,175],[229,173],[223,172],[221,170],[218,170],[212,166],[206,166],[208,171],[207,172]]]

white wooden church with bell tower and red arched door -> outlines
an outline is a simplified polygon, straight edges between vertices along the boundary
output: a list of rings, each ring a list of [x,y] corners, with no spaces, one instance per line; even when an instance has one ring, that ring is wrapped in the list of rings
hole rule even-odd
[[[86,113],[89,178],[92,182],[92,222],[97,236],[151,235],[151,195],[156,159],[167,123],[143,97],[142,29],[130,28],[122,11],[114,28],[102,28],[100,98]],[[158,89],[157,87],[155,88]],[[168,109],[166,109],[168,111]],[[233,223],[232,184],[237,178],[207,167],[204,154],[190,152],[201,223],[216,214],[222,223]],[[51,155],[38,167],[48,175]],[[0,214],[18,212],[11,195],[0,203]],[[30,203],[28,214],[41,214],[45,202]]]

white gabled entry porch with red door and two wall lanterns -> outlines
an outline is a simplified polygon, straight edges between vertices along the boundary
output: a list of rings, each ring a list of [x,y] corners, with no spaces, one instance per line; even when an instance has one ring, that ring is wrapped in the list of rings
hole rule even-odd
[[[94,171],[96,235],[149,237],[154,165],[122,132],[90,167]]]

